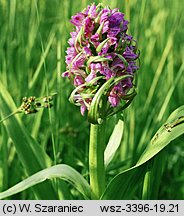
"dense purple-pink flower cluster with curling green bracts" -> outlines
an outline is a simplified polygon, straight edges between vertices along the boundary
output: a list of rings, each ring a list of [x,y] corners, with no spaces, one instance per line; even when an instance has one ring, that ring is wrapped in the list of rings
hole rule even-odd
[[[105,93],[109,106],[118,107],[133,88],[138,69],[136,41],[127,34],[128,21],[118,9],[92,4],[72,16],[71,23],[75,31],[70,33],[67,71],[63,76],[68,77],[77,89],[74,101],[84,114],[106,81],[124,76]]]

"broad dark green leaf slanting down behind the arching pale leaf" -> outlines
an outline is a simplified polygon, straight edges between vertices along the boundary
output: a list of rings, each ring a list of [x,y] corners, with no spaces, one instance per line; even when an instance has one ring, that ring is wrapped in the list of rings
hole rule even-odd
[[[17,107],[1,82],[0,89],[0,110],[3,116],[7,116],[17,110]],[[30,136],[18,115],[11,116],[3,121],[3,124],[15,145],[20,161],[28,175],[32,175],[35,172],[51,166],[51,159],[36,140]],[[44,182],[33,189],[39,199],[58,198],[51,182]],[[45,191],[47,191],[47,193],[45,193]]]

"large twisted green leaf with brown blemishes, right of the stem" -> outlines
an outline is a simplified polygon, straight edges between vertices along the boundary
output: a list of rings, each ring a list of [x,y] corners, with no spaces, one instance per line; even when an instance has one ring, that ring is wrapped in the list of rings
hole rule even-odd
[[[142,182],[146,163],[165,148],[172,140],[184,133],[184,106],[176,109],[152,138],[137,164],[116,175],[108,184],[101,199],[131,199]]]

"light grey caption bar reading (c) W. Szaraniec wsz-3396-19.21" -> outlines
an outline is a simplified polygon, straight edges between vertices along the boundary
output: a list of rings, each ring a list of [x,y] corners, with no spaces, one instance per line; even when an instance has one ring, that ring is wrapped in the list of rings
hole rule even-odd
[[[184,215],[182,200],[2,200],[0,215],[15,216],[112,216],[112,215]]]

